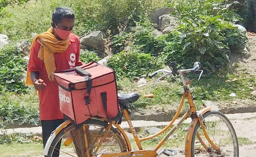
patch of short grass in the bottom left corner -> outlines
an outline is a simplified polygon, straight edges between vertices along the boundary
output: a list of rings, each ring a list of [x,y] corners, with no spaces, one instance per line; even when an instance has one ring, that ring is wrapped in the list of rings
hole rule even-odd
[[[35,157],[43,156],[43,144],[0,144],[1,157]]]

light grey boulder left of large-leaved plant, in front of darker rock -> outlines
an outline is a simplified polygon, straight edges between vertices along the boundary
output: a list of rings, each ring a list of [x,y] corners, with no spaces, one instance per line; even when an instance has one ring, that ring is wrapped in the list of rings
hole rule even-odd
[[[163,31],[166,27],[170,27],[169,29],[174,29],[177,27],[177,18],[171,15],[165,14],[159,16],[159,25],[158,29]]]

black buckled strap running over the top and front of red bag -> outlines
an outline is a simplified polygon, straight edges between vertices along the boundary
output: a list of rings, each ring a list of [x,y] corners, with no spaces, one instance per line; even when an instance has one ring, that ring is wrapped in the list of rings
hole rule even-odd
[[[84,97],[85,100],[85,104],[90,104],[90,93],[91,93],[91,88],[92,88],[92,83],[93,80],[91,79],[91,74],[88,73],[87,71],[85,71],[84,69],[80,68],[80,67],[76,67],[75,68],[76,73],[78,73],[79,75],[83,76],[86,82],[86,90],[88,93],[88,96]]]

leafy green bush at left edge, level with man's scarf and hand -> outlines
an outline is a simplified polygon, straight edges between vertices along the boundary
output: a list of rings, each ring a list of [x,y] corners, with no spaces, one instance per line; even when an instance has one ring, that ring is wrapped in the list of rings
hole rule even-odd
[[[27,62],[22,57],[24,55],[14,45],[0,49],[0,91],[26,92],[23,75]]]

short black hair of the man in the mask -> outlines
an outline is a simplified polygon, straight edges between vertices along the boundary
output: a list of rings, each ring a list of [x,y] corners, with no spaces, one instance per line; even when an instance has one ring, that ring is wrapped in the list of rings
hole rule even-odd
[[[52,13],[52,22],[58,24],[63,18],[75,18],[75,13],[68,7],[57,7]]]

